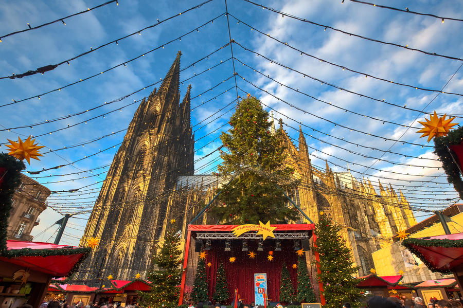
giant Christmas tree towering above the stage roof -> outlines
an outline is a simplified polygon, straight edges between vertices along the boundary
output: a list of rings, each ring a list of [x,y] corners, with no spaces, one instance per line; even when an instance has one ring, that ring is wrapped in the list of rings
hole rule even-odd
[[[213,212],[230,224],[296,220],[297,212],[288,207],[283,192],[293,191],[298,182],[292,176],[294,169],[283,163],[281,131],[271,132],[269,113],[248,96],[238,103],[230,125],[220,136],[227,151],[221,151],[219,166],[220,175],[230,182],[218,197],[223,206]]]

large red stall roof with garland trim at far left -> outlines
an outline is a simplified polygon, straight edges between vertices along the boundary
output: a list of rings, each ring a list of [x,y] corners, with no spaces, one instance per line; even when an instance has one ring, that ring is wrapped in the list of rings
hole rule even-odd
[[[53,277],[72,274],[91,248],[41,242],[7,241],[0,260],[37,270]]]

